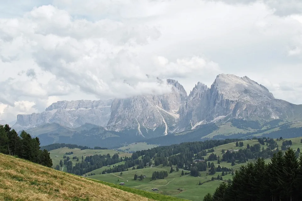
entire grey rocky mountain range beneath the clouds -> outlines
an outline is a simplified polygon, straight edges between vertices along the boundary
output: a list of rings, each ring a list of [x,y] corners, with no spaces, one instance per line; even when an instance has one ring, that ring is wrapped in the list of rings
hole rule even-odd
[[[163,82],[160,79],[158,81]],[[18,115],[13,128],[17,131],[27,130],[32,135],[44,134],[44,137],[45,133],[48,133],[47,136],[52,138],[50,141],[62,143],[64,136],[73,138],[76,134],[79,137],[79,133],[84,136],[107,133],[107,137],[101,134],[100,138],[103,139],[131,136],[133,140],[141,140],[178,135],[177,133],[198,130],[208,124],[227,125],[235,127],[237,130],[231,129],[234,132],[243,132],[262,129],[272,120],[297,122],[302,119],[302,105],[275,99],[266,87],[247,76],[220,74],[210,87],[198,82],[189,95],[178,81],[167,79],[166,82],[171,86],[171,91],[164,95],[139,95],[113,100],[58,101],[41,113]],[[260,126],[236,127],[234,119],[243,120],[245,124],[256,122]],[[53,123],[55,124],[51,126],[51,130],[49,124]],[[43,130],[41,128],[45,125],[48,125],[52,134],[35,131],[35,128]],[[94,126],[88,128],[87,125]],[[62,129],[60,132],[58,127]],[[94,132],[90,132],[91,129],[94,129]],[[218,130],[210,137],[223,132],[225,131]],[[56,137],[53,134],[56,134]]]

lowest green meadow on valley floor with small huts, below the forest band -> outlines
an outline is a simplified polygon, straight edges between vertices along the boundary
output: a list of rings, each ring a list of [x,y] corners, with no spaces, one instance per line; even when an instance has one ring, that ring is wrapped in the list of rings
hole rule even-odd
[[[180,169],[178,172],[174,171],[169,174],[165,179],[159,179],[155,181],[151,181],[152,173],[154,171],[170,171],[171,167],[154,167],[154,168],[144,168],[138,170],[129,170],[123,172],[122,175],[120,173],[113,174],[103,174],[103,175],[92,175],[89,178],[101,180],[103,182],[110,182],[113,185],[117,185],[120,182],[125,182],[125,187],[131,187],[139,190],[143,190],[145,192],[153,192],[152,188],[158,188],[159,191],[156,193],[162,195],[170,195],[175,198],[184,198],[189,200],[200,200],[204,197],[204,195],[208,192],[213,193],[215,188],[219,186],[220,181],[210,181],[212,177],[208,176],[207,178],[201,178],[206,175],[206,172],[202,172],[202,176],[200,177],[192,177],[190,175],[181,176],[182,170]],[[189,171],[185,171],[189,172]],[[134,174],[137,175],[145,175],[147,176],[142,181],[134,180]],[[218,173],[217,173],[218,175]],[[221,172],[220,172],[221,175]],[[119,176],[119,177],[117,177]],[[122,177],[122,178],[120,178]],[[217,176],[216,176],[217,177]],[[226,177],[228,179],[230,176]],[[199,181],[204,183],[199,186]],[[178,190],[180,189],[180,190]]]

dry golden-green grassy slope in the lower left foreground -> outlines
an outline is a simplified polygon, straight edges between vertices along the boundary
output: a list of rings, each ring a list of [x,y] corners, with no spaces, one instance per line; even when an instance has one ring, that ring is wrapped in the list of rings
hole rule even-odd
[[[180,200],[112,184],[110,187],[9,155],[0,154],[0,161],[0,200]]]

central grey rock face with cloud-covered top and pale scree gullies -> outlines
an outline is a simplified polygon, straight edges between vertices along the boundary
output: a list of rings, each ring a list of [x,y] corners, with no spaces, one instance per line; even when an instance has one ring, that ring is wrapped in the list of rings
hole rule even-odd
[[[115,99],[107,128],[135,130],[137,135],[148,137],[168,134],[177,123],[178,110],[187,99],[187,92],[177,81],[168,79],[167,82],[172,88],[169,94]]]

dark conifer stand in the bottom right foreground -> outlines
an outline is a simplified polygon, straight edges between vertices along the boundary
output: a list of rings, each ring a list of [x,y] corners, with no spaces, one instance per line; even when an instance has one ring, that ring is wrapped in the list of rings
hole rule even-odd
[[[290,200],[302,198],[302,154],[299,159],[293,149],[274,153],[271,162],[263,158],[242,166],[233,175],[232,182],[222,182],[214,194],[204,201]]]

